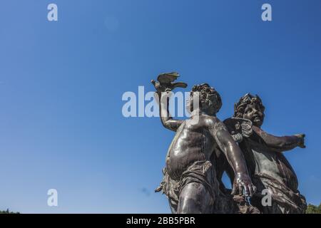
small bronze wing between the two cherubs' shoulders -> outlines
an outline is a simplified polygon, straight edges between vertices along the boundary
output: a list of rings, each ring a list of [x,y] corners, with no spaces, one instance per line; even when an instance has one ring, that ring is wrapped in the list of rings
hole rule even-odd
[[[244,118],[228,118],[223,121],[231,135],[241,134],[243,137],[252,135],[252,121]]]

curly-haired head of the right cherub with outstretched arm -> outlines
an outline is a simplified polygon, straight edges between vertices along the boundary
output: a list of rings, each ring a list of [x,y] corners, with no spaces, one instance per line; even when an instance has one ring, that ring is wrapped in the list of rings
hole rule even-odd
[[[251,120],[253,125],[260,126],[264,120],[264,110],[262,100],[258,95],[247,93],[234,105],[234,117]]]

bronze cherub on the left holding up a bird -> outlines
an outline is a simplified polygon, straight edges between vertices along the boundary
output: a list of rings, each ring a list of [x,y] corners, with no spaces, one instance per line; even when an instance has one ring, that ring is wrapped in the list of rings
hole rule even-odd
[[[193,86],[189,100],[190,118],[174,120],[168,111],[170,90],[187,86],[173,83],[176,78],[178,73],[164,73],[158,76],[158,82],[152,81],[161,122],[165,128],[175,131],[165,159],[163,182],[156,191],[163,190],[167,195],[173,213],[215,212],[216,204],[222,202],[215,157],[223,152],[235,177],[232,193],[253,195],[255,186],[248,175],[243,152],[216,117],[222,105],[220,95],[207,83]],[[194,107],[193,99],[198,99],[198,107]]]

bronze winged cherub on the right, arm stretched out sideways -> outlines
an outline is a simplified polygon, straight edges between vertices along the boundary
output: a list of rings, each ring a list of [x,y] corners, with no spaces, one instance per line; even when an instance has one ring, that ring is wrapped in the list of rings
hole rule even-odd
[[[234,118],[225,120],[231,134],[239,134],[240,123],[250,120],[252,132],[239,141],[247,162],[250,177],[258,188],[253,195],[252,204],[262,213],[304,213],[307,207],[305,197],[297,190],[297,176],[282,152],[295,147],[305,148],[305,135],[277,137],[261,129],[265,107],[258,95],[245,94],[235,104]],[[233,172],[227,166],[228,174]],[[267,189],[272,197],[272,204],[262,204],[262,191]]]

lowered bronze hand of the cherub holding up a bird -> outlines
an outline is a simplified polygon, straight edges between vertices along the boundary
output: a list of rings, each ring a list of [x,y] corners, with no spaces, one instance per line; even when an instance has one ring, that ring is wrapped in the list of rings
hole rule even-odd
[[[238,172],[235,175],[232,195],[235,195],[236,192],[238,192],[239,195],[245,195],[246,197],[248,197],[252,196],[255,191],[256,187],[253,185],[250,177],[247,174]]]

